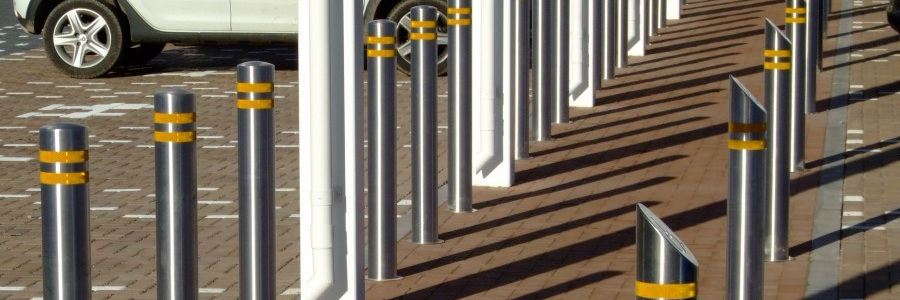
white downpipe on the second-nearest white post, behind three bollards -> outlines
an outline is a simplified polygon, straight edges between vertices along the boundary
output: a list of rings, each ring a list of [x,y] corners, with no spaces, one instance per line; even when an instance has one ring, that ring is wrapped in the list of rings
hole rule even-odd
[[[494,122],[495,118],[499,117],[495,104],[497,101],[500,101],[500,84],[497,83],[496,76],[497,58],[499,58],[497,57],[499,47],[496,40],[498,36],[496,19],[498,16],[494,1],[477,2],[480,2],[481,9],[474,11],[482,14],[480,18],[482,26],[480,30],[481,49],[473,49],[473,52],[480,54],[482,62],[482,66],[479,66],[482,82],[480,83],[479,91],[481,111],[478,122],[478,127],[480,128],[479,140],[481,143],[479,144],[478,152],[473,155],[473,162],[475,163],[475,172],[481,172],[491,160],[502,154],[499,150],[500,146],[494,142],[496,130],[498,129],[495,128]],[[488,66],[484,66],[485,64]]]

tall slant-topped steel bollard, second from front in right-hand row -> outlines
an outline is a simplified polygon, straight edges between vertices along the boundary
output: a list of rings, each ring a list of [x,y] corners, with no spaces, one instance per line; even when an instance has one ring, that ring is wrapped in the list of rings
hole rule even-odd
[[[762,299],[766,111],[731,77],[725,299]]]

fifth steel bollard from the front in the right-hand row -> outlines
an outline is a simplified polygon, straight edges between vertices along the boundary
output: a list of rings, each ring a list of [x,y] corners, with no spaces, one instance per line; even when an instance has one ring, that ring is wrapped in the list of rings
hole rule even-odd
[[[804,112],[807,115],[816,113],[816,75],[819,71],[819,55],[822,47],[822,5],[821,0],[806,1],[806,68],[803,78],[804,86]]]

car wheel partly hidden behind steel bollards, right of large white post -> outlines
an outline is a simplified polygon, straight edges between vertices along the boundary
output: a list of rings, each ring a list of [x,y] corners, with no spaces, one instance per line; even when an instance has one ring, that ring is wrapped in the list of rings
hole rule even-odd
[[[400,1],[391,12],[388,13],[387,19],[397,23],[397,70],[409,75],[412,70],[412,49],[409,40],[410,31],[410,15],[409,10],[419,5],[430,5],[438,9],[438,75],[447,74],[447,55],[450,52],[447,47],[447,2],[440,0],[403,0]]]

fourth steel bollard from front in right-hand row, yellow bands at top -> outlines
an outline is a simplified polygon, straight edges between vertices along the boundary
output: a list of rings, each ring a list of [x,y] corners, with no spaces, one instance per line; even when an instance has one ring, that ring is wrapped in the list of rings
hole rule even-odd
[[[791,172],[806,170],[806,0],[787,0],[787,36],[791,39]]]

